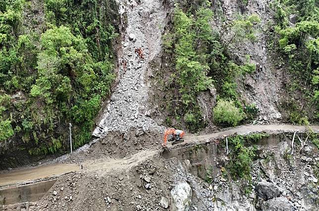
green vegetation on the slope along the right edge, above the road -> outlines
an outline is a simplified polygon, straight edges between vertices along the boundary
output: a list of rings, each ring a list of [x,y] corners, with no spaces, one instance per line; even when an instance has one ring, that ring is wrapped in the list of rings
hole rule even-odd
[[[319,2],[318,0],[275,0],[276,26],[270,34],[292,81],[287,92],[292,99],[284,104],[292,123],[308,124],[319,119]],[[298,95],[298,102],[293,99]],[[297,96],[295,97],[297,98]]]

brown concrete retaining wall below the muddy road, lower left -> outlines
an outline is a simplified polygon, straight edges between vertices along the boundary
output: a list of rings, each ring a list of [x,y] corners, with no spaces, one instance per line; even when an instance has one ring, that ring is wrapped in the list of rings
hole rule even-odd
[[[56,180],[38,182],[21,187],[0,190],[0,205],[12,205],[22,202],[36,202],[53,186]]]

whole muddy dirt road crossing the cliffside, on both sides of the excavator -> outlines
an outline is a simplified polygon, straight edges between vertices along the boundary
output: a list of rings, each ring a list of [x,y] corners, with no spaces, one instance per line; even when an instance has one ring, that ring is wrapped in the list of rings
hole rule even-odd
[[[319,132],[319,126],[311,126],[312,130]],[[185,142],[179,145],[175,145],[174,148],[180,148],[185,145],[199,144],[207,140],[218,139],[223,136],[230,136],[234,134],[244,135],[247,133],[267,132],[270,134],[280,132],[298,132],[304,131],[305,126],[296,125],[245,125],[231,129],[222,130],[217,133],[207,134],[202,136],[186,136]],[[168,148],[171,148],[168,144]],[[142,162],[145,159],[151,158],[154,155],[160,153],[156,150],[144,150],[129,158],[120,159],[98,159],[98,160],[86,160],[83,163],[84,169],[81,170],[76,164],[50,164],[40,167],[32,167],[20,170],[12,170],[8,173],[0,174],[0,186],[4,186],[12,183],[21,183],[26,180],[36,180],[54,175],[60,175],[71,171],[95,171],[98,173],[107,173],[116,170],[129,169]]]

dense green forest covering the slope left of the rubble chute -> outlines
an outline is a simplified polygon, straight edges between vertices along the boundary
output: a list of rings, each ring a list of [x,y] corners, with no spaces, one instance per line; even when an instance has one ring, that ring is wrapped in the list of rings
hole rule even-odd
[[[113,1],[45,0],[36,8],[45,23],[30,23],[22,11],[33,6],[0,0],[0,142],[38,155],[68,147],[69,122],[74,148],[90,140],[114,79],[117,9]]]

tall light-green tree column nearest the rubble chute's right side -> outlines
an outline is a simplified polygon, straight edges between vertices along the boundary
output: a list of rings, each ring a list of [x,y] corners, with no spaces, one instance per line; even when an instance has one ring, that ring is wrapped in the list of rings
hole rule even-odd
[[[175,72],[171,82],[178,90],[172,105],[175,112],[183,116],[190,131],[203,127],[202,113],[197,103],[197,95],[212,86],[207,76],[209,66],[206,60],[207,45],[212,39],[210,20],[213,12],[206,8],[206,1],[195,11],[195,16],[175,8],[173,31],[164,36],[165,51],[174,54]],[[182,108],[182,109],[180,109]]]

